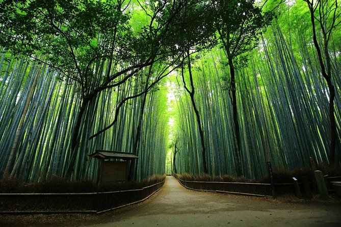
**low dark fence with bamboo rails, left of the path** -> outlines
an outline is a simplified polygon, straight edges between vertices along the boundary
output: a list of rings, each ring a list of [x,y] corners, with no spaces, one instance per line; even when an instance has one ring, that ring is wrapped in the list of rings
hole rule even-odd
[[[0,193],[0,214],[102,213],[142,202],[165,180],[140,189],[88,193]]]

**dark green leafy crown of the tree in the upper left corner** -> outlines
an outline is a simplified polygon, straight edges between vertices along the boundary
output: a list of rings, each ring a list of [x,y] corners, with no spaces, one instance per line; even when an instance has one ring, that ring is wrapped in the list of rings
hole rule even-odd
[[[46,55],[46,62],[81,84],[83,94],[93,83],[91,64],[113,49],[121,60],[134,62],[130,16],[120,2],[16,2],[1,3],[0,45],[14,53]]]

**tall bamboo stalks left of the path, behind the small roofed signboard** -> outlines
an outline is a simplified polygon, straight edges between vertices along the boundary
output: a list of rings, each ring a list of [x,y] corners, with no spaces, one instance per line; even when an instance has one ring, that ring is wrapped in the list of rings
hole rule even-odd
[[[59,80],[57,72],[45,64],[13,59],[8,53],[2,59],[2,174],[25,182],[63,176],[68,168],[66,160],[72,155],[69,147],[79,108],[77,87]],[[150,67],[116,91],[101,93],[90,102],[81,128],[79,149],[83,152],[77,153],[73,179],[96,179],[98,162],[87,157],[95,149],[138,154],[135,180],[164,173],[168,120],[163,114],[164,94],[155,90],[143,93],[160,75],[167,75],[164,70]],[[97,73],[105,71],[105,65],[94,68]],[[115,127],[89,140],[115,118]]]

